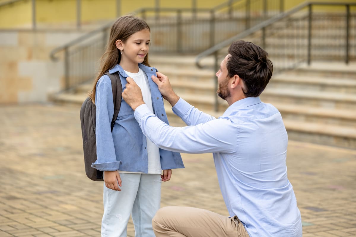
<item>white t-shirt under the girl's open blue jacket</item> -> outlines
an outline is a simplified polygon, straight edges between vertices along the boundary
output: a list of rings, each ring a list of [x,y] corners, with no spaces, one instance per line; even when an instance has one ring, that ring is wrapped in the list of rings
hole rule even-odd
[[[151,90],[150,90],[150,86],[148,85],[148,78],[146,73],[143,72],[141,68],[139,68],[137,73],[132,73],[128,71],[125,72],[141,88],[143,102],[147,104],[147,107],[153,113]],[[162,168],[161,168],[161,160],[159,158],[159,148],[147,137],[146,140],[147,140],[147,155],[148,155],[148,173],[161,174]],[[119,170],[119,173],[142,173],[142,172],[127,172],[127,171]]]

